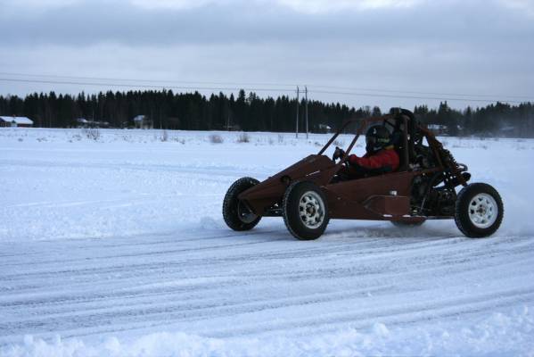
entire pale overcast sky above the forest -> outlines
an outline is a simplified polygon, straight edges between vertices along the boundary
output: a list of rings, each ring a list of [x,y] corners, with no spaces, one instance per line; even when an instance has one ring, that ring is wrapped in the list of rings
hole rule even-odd
[[[308,85],[382,109],[534,101],[534,0],[0,0],[0,72],[2,95]]]

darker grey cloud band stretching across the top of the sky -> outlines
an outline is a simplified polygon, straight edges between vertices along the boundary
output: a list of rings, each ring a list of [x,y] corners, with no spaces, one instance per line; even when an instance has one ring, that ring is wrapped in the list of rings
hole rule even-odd
[[[126,1],[96,0],[39,12],[0,14],[2,42],[12,46],[131,46],[198,43],[534,41],[529,16],[492,1],[432,2],[409,8],[305,14],[265,2],[146,10]]]

